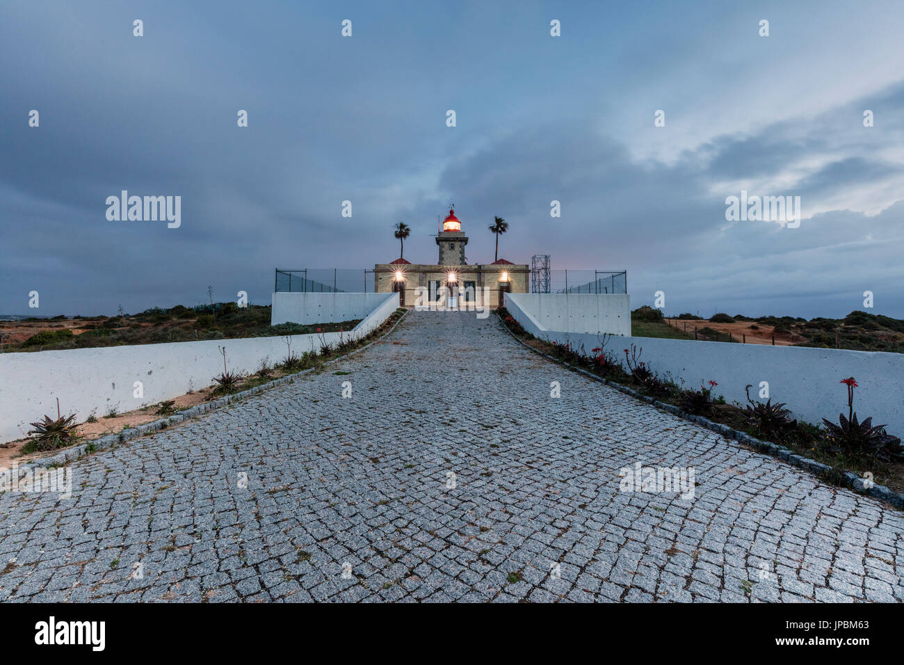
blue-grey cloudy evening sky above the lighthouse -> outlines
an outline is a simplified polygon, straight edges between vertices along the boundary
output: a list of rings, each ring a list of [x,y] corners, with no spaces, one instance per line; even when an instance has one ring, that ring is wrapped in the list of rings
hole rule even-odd
[[[436,261],[454,201],[468,261],[500,215],[501,256],[626,269],[634,306],[904,318],[902,34],[899,0],[5,0],[0,312],[268,303],[274,268],[397,258],[399,221]],[[726,221],[742,189],[800,226]],[[121,190],[181,226],[108,221]]]

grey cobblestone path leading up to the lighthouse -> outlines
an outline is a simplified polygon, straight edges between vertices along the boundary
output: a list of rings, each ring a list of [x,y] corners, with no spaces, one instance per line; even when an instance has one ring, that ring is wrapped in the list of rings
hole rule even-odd
[[[692,467],[694,497],[619,491],[638,461]],[[0,496],[0,601],[904,601],[899,511],[495,316],[410,311],[321,374],[68,468],[71,499]]]

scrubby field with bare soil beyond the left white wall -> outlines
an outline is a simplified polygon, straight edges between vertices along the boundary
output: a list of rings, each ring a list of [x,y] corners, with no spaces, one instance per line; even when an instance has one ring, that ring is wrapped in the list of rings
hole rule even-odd
[[[0,339],[6,353],[64,348],[121,347],[133,344],[192,342],[274,335],[351,330],[359,320],[301,326],[270,326],[270,307],[220,302],[187,308],[146,309],[122,317],[25,318],[0,321]]]

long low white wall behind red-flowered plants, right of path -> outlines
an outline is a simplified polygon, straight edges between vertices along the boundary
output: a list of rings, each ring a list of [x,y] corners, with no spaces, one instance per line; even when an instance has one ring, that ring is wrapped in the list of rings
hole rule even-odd
[[[587,355],[600,346],[597,335],[545,329],[526,304],[508,294],[505,300],[513,318],[536,337],[570,342],[579,351],[583,346]],[[815,424],[847,415],[847,389],[839,382],[853,376],[860,386],[853,403],[858,417],[872,416],[874,424],[887,424],[890,434],[904,437],[904,354],[657,337],[612,337],[606,350],[625,366],[623,349],[632,344],[643,348],[640,359],[657,374],[688,388],[715,381],[713,393],[729,403],[747,404],[748,384],[750,396],[758,400],[759,382],[767,381],[773,404],[786,402],[796,418]]]

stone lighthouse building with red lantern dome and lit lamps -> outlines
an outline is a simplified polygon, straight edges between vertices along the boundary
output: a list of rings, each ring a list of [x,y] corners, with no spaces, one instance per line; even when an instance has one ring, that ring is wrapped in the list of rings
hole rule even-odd
[[[378,293],[399,291],[401,303],[407,307],[415,305],[420,290],[427,295],[429,303],[446,308],[466,308],[475,303],[498,307],[500,291],[527,293],[530,269],[526,263],[505,259],[493,263],[467,263],[467,236],[455,210],[450,210],[440,223],[436,241],[436,263],[411,263],[400,258],[374,265],[374,290]],[[481,301],[476,301],[478,295]]]

